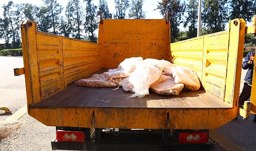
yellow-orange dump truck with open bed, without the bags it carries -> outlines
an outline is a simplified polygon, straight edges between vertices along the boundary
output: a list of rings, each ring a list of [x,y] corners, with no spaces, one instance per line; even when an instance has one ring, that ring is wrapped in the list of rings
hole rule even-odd
[[[256,114],[255,95],[238,107],[244,37],[255,35],[255,18],[252,26],[234,19],[225,31],[176,43],[166,19],[100,19],[97,43],[44,33],[27,20],[24,68],[14,74],[25,74],[28,114],[56,127],[53,150],[210,150],[210,129]],[[122,89],[75,84],[139,56],[191,68],[200,89],[131,98]]]

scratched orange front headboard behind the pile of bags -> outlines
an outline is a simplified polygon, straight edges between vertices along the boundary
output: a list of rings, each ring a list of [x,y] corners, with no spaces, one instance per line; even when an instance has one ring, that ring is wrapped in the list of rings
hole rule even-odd
[[[171,61],[169,28],[165,19],[103,19],[99,24],[102,67],[117,68],[125,58],[138,56]]]

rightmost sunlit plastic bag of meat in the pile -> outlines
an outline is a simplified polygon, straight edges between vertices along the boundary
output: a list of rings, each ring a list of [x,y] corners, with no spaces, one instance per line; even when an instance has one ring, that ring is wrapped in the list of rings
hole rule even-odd
[[[175,65],[172,71],[175,83],[183,83],[184,88],[191,91],[197,91],[200,88],[200,81],[194,70],[185,66]]]

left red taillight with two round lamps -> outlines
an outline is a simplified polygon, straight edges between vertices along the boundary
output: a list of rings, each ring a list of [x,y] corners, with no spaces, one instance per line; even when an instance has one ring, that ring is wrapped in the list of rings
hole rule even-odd
[[[84,132],[56,131],[57,141],[85,142]]]

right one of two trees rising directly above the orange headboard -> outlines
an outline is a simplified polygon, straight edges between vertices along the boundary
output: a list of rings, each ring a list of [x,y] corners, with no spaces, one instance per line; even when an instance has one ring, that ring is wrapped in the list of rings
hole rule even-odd
[[[145,18],[145,12],[142,10],[143,0],[132,0],[131,9],[129,12],[129,18],[143,19]]]

